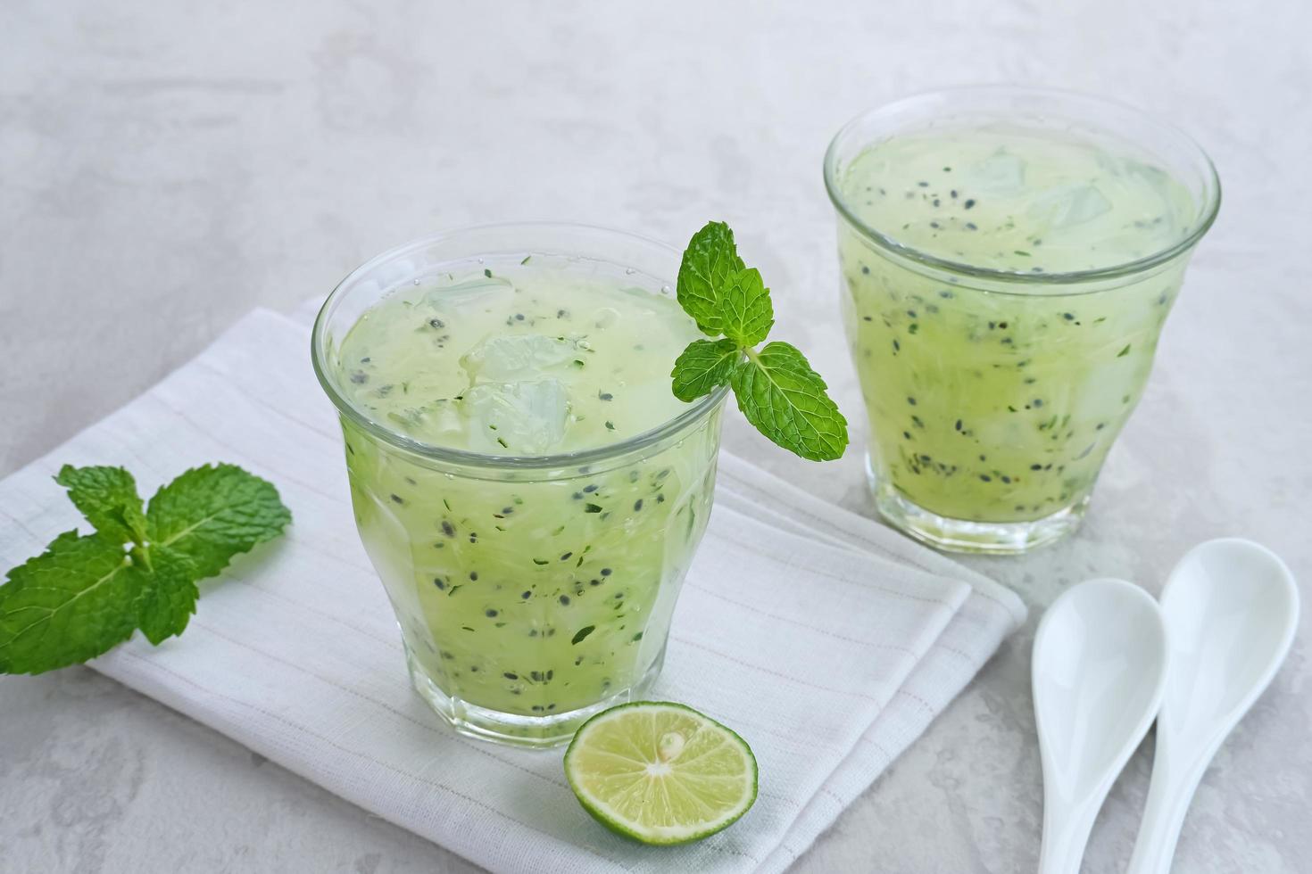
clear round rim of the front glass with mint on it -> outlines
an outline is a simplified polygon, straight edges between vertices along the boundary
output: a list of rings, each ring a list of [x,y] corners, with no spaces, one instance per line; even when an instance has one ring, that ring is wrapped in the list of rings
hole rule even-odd
[[[656,427],[648,428],[642,434],[636,434],[631,438],[621,440],[619,443],[610,443],[606,446],[593,447],[589,449],[579,449],[576,452],[555,452],[547,455],[489,455],[484,452],[472,452],[468,449],[455,449],[451,447],[443,447],[434,443],[428,443],[425,440],[419,440],[404,434],[400,434],[392,428],[388,428],[383,423],[370,418],[363,411],[357,409],[346,397],[337,390],[335,380],[328,375],[327,367],[324,366],[325,356],[325,338],[327,338],[327,321],[331,307],[340,300],[345,292],[350,288],[352,283],[367,275],[371,270],[390,262],[394,258],[404,256],[416,249],[422,249],[425,246],[441,242],[443,240],[451,240],[459,237],[461,235],[474,233],[474,232],[487,232],[487,231],[513,231],[513,229],[562,229],[562,231],[583,231],[583,232],[600,232],[607,236],[626,237],[631,241],[642,242],[644,245],[664,249],[670,253],[676,259],[681,256],[678,249],[674,249],[666,242],[646,237],[639,233],[632,233],[628,231],[619,231],[615,228],[607,228],[604,225],[586,224],[580,221],[492,221],[484,224],[471,224],[462,225],[459,228],[451,228],[447,231],[440,231],[437,233],[430,233],[424,237],[417,237],[403,242],[400,245],[392,246],[373,258],[367,259],[365,263],[359,265],[352,270],[346,276],[338,282],[333,290],[324,299],[323,305],[319,308],[319,314],[315,317],[315,325],[310,334],[310,359],[315,368],[315,376],[319,379],[319,385],[323,388],[328,400],[332,401],[333,406],[337,408],[338,414],[349,419],[353,425],[363,428],[367,434],[382,439],[384,443],[404,449],[412,455],[421,456],[432,461],[441,461],[445,464],[453,464],[467,468],[483,468],[483,469],[499,469],[499,470],[543,470],[543,469],[558,469],[558,468],[571,468],[571,466],[584,466],[594,464],[597,461],[605,461],[615,459],[623,455],[628,455],[636,449],[643,449],[657,443],[666,440],[668,438],[676,435],[677,432],[686,428],[689,425],[697,422],[698,419],[706,418],[711,411],[718,409],[728,394],[729,387],[720,385],[714,392],[706,397],[699,398],[697,402],[690,404],[686,410],[682,410],[678,415],[665,419]],[[478,257],[484,253],[470,252],[468,257]],[[581,254],[581,253],[563,253],[563,254]],[[605,261],[605,258],[597,258],[598,261]],[[625,265],[618,265],[625,266]],[[398,287],[400,283],[395,283]],[[391,291],[391,290],[388,290]],[[673,366],[673,362],[672,362]]]

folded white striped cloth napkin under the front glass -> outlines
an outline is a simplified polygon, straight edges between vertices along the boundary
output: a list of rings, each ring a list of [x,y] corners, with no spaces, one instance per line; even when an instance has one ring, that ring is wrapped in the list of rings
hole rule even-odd
[[[79,523],[50,481],[66,463],[121,464],[143,494],[209,461],[273,481],[287,535],[202,584],[182,637],[92,667],[495,871],[783,870],[1023,621],[1013,592],[723,453],[652,697],[737,730],[760,795],[705,841],[630,843],[575,803],[559,750],[461,738],[412,692],[308,350],[256,311],[0,482],[0,566]]]

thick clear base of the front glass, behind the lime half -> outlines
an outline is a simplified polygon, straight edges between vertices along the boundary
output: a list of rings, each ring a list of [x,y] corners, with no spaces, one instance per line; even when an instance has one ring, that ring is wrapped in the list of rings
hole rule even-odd
[[[627,689],[621,689],[614,694],[597,701],[586,708],[571,710],[569,713],[554,713],[548,717],[525,717],[516,713],[501,713],[489,710],[476,704],[470,704],[462,698],[451,697],[442,692],[433,680],[424,674],[419,662],[405,647],[405,666],[409,668],[411,684],[420,697],[428,702],[440,717],[446,719],[457,732],[467,738],[505,743],[530,750],[546,750],[568,743],[584,722],[610,708],[630,701],[642,701],[647,689],[660,675],[665,663],[665,650],[647,668],[647,672]]]

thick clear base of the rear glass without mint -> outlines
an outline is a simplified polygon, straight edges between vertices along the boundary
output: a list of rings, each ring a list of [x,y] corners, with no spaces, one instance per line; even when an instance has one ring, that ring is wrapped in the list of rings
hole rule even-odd
[[[1018,556],[1065,537],[1084,519],[1089,497],[1033,522],[972,522],[939,516],[912,503],[891,484],[882,482],[866,456],[866,477],[875,508],[893,528],[935,549],[991,556]]]

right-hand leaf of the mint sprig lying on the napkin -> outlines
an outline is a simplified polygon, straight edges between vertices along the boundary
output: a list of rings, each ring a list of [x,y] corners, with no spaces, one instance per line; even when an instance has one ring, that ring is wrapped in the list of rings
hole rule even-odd
[[[152,549],[168,546],[190,558],[199,578],[277,537],[290,522],[278,490],[232,464],[188,470],[156,491],[146,510]]]

